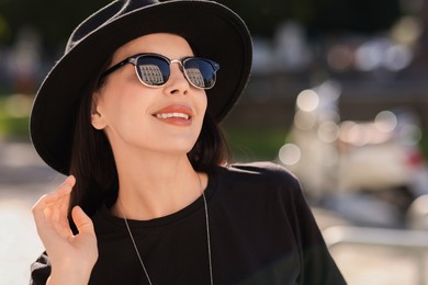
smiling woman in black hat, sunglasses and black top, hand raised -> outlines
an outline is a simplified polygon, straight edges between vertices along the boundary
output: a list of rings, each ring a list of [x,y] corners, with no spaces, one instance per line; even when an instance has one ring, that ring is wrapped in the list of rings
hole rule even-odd
[[[115,1],[77,27],[31,117],[68,175],[33,207],[33,284],[345,284],[296,180],[227,163],[217,123],[250,62],[212,1]]]

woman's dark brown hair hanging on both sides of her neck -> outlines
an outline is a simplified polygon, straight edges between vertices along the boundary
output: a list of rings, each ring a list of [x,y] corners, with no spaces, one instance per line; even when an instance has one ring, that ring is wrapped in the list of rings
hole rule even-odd
[[[93,82],[95,83],[88,87],[80,101],[70,159],[70,174],[76,176],[76,185],[71,192],[69,210],[79,205],[89,216],[101,204],[113,205],[119,191],[117,171],[110,142],[104,132],[93,128],[91,124],[92,94],[103,84],[98,80]],[[188,153],[190,162],[195,171],[210,173],[218,164],[227,162],[228,155],[221,128],[206,113],[196,144]]]

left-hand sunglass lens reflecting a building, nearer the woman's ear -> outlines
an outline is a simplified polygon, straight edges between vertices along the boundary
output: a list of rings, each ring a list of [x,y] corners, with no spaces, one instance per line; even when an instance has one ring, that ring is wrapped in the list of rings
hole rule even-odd
[[[162,86],[169,79],[169,62],[162,58],[153,56],[139,57],[136,68],[139,79],[147,86]]]

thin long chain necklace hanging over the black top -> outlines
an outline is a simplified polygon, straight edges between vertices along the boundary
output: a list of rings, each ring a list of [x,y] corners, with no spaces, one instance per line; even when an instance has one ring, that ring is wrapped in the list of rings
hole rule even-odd
[[[203,198],[203,202],[204,202],[205,227],[206,227],[206,243],[207,243],[209,265],[210,265],[210,284],[211,284],[211,285],[214,285],[214,280],[213,280],[213,263],[212,263],[212,259],[211,259],[211,237],[210,237],[210,216],[209,216],[209,206],[207,206],[207,203],[206,203],[205,193],[204,193],[204,191],[203,191],[203,189],[202,189],[202,182],[201,182],[201,178],[200,178],[199,174],[198,174],[198,181],[199,181],[200,190],[201,190],[201,192],[202,192],[202,198]],[[121,212],[122,212],[124,221],[125,221],[125,226],[126,226],[127,232],[129,233],[131,241],[132,241],[132,243],[133,243],[133,246],[134,246],[135,252],[137,253],[139,263],[142,264],[142,267],[143,267],[143,271],[144,271],[144,274],[146,275],[146,278],[147,278],[147,281],[148,281],[148,284],[153,285],[150,275],[148,274],[148,271],[147,271],[146,266],[144,265],[142,255],[139,254],[139,251],[138,251],[138,248],[137,248],[137,243],[135,242],[134,236],[133,236],[133,233],[132,233],[132,231],[131,231],[131,228],[129,228],[129,225],[128,225],[128,223],[127,223],[127,218],[126,218],[125,212],[123,210],[122,202],[121,202],[120,200],[119,200],[119,203],[120,203],[120,208],[121,208]]]

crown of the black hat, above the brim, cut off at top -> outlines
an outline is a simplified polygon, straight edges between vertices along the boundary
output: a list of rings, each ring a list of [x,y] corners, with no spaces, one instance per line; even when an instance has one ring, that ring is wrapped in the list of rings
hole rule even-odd
[[[136,9],[159,3],[157,0],[116,0],[109,5],[97,11],[83,22],[81,22],[68,38],[66,50],[67,54],[82,38],[91,34],[100,26],[120,18],[123,14],[132,12]]]

